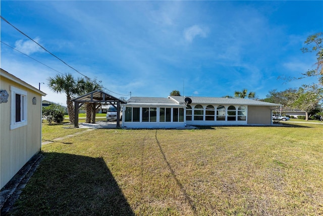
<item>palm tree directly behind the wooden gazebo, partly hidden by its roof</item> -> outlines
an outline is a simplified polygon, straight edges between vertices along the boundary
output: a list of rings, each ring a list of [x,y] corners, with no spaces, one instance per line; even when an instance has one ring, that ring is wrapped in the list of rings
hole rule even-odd
[[[95,90],[102,90],[101,81],[97,81],[96,78],[93,80],[81,79],[78,81],[78,85],[80,89],[79,95],[85,95]],[[95,115],[95,113],[93,113],[93,105],[91,103],[85,103],[85,112],[86,112],[85,122],[90,123],[92,119],[92,115]]]

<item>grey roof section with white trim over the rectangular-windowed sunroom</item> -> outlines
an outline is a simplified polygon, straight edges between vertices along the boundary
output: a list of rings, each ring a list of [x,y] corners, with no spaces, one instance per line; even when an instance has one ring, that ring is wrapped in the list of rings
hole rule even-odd
[[[170,98],[152,98],[152,97],[131,97],[127,105],[165,105],[165,106],[185,106]]]

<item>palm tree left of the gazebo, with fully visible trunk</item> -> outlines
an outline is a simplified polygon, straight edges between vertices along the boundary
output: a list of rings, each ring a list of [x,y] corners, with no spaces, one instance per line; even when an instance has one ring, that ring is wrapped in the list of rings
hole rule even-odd
[[[74,123],[75,113],[72,99],[78,92],[77,81],[70,73],[65,75],[57,74],[55,77],[49,77],[47,81],[49,89],[53,92],[66,94],[66,104],[70,123]]]

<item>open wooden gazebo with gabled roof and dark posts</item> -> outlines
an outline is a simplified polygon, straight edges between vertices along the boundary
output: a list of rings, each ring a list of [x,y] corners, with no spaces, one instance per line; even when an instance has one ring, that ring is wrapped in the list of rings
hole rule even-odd
[[[125,104],[126,102],[115,98],[107,93],[104,93],[100,90],[95,90],[93,92],[87,93],[85,95],[82,95],[78,98],[73,99],[74,101],[74,126],[79,127],[79,118],[78,113],[80,107],[84,103],[91,103],[93,108],[94,115],[92,116],[92,122],[95,123],[95,110],[101,105],[101,104],[111,104],[112,106],[117,108],[117,127],[120,127],[120,104]]]

